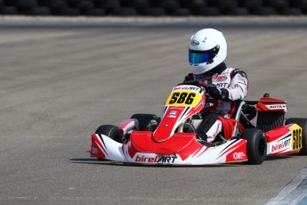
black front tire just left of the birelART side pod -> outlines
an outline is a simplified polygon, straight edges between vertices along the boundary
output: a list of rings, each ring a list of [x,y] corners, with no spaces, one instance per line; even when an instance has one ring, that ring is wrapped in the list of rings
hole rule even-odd
[[[264,137],[263,131],[259,129],[245,129],[241,137],[246,139],[246,152],[247,161],[246,164],[261,164],[266,158],[267,143]]]

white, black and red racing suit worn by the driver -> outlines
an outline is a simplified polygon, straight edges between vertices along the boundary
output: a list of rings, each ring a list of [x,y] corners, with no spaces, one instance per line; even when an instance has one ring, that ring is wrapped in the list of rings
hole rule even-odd
[[[222,122],[219,116],[229,118],[232,102],[242,100],[248,92],[248,79],[242,70],[227,68],[224,63],[204,74],[195,75],[190,73],[186,79],[202,81],[208,86],[215,85],[228,91],[225,101],[219,100],[218,106],[214,111],[204,113],[204,120],[197,129],[198,137],[206,142],[214,142],[217,135],[222,132]],[[207,99],[212,99],[206,94]]]

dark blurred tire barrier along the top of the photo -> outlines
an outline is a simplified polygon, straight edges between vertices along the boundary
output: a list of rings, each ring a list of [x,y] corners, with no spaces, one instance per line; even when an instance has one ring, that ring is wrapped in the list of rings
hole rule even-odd
[[[307,0],[0,0],[3,15],[306,15]]]

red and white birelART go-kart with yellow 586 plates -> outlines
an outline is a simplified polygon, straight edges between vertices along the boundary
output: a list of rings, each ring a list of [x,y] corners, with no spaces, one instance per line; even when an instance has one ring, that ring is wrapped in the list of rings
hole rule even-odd
[[[206,165],[243,161],[261,164],[266,156],[307,154],[307,119],[286,119],[287,102],[264,94],[259,101],[237,101],[221,117],[219,140],[198,138],[206,100],[201,82],[174,86],[162,117],[134,114],[118,126],[102,125],[92,135],[91,155],[103,160],[165,165]],[[256,124],[252,119],[257,116]]]

